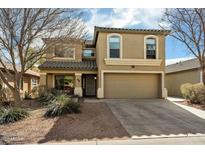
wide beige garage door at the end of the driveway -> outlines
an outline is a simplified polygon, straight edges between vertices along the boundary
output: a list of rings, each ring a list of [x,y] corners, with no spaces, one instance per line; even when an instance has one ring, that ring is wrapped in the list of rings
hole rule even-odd
[[[105,98],[159,98],[159,74],[104,74]]]

